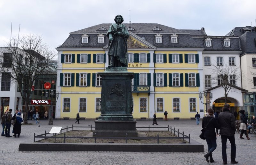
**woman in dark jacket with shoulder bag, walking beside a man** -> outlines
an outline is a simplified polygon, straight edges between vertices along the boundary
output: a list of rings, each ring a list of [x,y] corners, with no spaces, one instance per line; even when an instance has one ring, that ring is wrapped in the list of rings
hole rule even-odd
[[[207,113],[209,114],[209,116],[205,116],[202,122],[202,128],[205,128],[206,125],[209,123],[204,131],[204,138],[208,145],[208,153],[205,154],[204,157],[207,162],[209,162],[209,157],[210,162],[214,162],[214,160],[212,159],[212,152],[217,147],[215,128],[219,129],[219,125],[217,120],[213,116],[213,109],[208,109]]]

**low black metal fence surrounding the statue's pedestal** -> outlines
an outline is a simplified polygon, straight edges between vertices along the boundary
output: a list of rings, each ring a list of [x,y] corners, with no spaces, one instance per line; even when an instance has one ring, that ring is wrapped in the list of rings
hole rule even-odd
[[[94,126],[90,125],[90,126],[72,126],[71,127],[66,127],[60,130],[60,134],[62,134],[62,131],[66,131],[68,132],[68,129],[71,129],[71,131],[73,131],[73,128],[90,128],[92,131],[92,128],[95,128]],[[169,125],[167,127],[150,127],[150,125],[148,125],[148,127],[136,127],[136,128],[143,128],[143,129],[148,129],[148,131],[152,131],[150,130],[151,128],[166,128],[169,132],[173,132],[174,136],[178,136],[178,137],[159,137],[159,135],[157,134],[156,137],[128,137],[127,134],[125,137],[97,137],[97,134],[95,133],[94,137],[73,137],[73,136],[66,136],[66,133],[64,133],[63,137],[57,137],[57,133],[53,133],[53,136],[46,136],[48,134],[51,133],[46,133],[46,131],[44,131],[44,134],[40,134],[40,135],[36,135],[36,133],[34,133],[34,142],[36,142],[36,138],[44,138],[44,139],[55,139],[55,143],[57,139],[63,139],[63,142],[66,143],[66,139],[94,139],[94,143],[97,142],[97,139],[125,139],[125,142],[127,143],[128,139],[157,139],[157,144],[159,144],[159,139],[188,139],[188,143],[190,143],[190,134],[185,135],[184,131],[182,131],[182,133],[178,130],[175,130],[175,128],[172,126],[169,127]],[[144,130],[143,130],[144,131]],[[155,130],[154,130],[155,131]],[[159,130],[159,131],[163,131],[163,130]]]

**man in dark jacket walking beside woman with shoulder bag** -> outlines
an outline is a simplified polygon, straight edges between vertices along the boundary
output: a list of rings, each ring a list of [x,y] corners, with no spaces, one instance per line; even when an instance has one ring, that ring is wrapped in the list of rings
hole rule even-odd
[[[235,116],[230,112],[229,104],[225,104],[223,111],[219,114],[218,124],[220,126],[223,164],[227,164],[227,140],[229,140],[231,145],[231,164],[236,164],[238,161],[236,161]]]

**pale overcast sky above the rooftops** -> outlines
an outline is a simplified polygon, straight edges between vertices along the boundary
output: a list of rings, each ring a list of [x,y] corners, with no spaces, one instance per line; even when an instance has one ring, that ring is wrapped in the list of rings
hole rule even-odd
[[[255,7],[256,0],[131,0],[131,23],[226,35],[236,26],[255,26]],[[12,38],[20,24],[20,36],[39,34],[55,50],[70,32],[113,23],[117,14],[129,23],[130,0],[0,0],[0,47],[10,42],[11,23]]]

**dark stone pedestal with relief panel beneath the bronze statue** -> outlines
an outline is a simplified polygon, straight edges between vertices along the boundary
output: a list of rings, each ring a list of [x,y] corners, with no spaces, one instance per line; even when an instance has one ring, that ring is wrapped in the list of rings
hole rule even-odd
[[[101,76],[101,115],[95,122],[93,136],[138,136],[132,116],[132,78],[127,67],[109,67]]]

